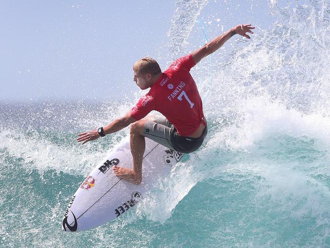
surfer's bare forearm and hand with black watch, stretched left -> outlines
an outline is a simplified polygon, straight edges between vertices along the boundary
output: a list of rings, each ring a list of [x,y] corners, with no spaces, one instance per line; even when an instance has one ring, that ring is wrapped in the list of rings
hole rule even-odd
[[[108,126],[103,127],[103,133],[112,134],[123,128],[126,128],[130,123],[137,121],[135,118],[131,117],[130,111],[128,111],[123,117],[115,119]],[[97,130],[91,130],[89,132],[78,134],[78,142],[82,142],[81,144],[85,144],[88,141],[95,140],[100,138],[100,134],[98,134]]]

